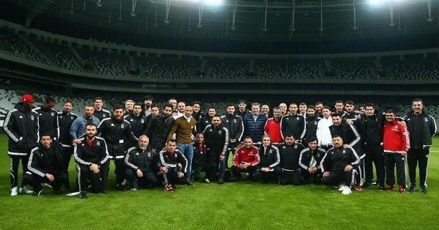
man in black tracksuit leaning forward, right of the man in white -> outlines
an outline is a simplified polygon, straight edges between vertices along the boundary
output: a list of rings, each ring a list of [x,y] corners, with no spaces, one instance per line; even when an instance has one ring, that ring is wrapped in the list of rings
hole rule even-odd
[[[361,136],[359,136],[359,132],[353,125],[349,125],[345,120],[342,120],[342,116],[338,113],[332,114],[332,123],[329,127],[329,131],[331,131],[331,136],[341,136],[343,139],[343,143],[345,148],[351,146],[355,150],[355,152],[360,156],[360,162],[358,164],[358,168],[355,168],[358,173],[356,175],[356,184],[354,189],[357,191],[361,191],[363,188],[363,179],[364,179],[364,153],[361,150]]]

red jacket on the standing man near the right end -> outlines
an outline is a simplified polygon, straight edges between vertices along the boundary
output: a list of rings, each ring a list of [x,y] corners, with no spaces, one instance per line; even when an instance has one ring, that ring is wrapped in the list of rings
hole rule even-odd
[[[396,120],[384,123],[383,149],[384,153],[401,153],[410,149],[409,132]]]

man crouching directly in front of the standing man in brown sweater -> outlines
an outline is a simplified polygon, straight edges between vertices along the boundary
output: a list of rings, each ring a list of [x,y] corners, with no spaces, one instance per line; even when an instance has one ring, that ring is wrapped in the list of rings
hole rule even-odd
[[[187,159],[177,149],[176,140],[167,141],[165,149],[158,153],[160,172],[165,180],[165,191],[174,192],[176,183],[184,183],[185,173],[187,170]]]

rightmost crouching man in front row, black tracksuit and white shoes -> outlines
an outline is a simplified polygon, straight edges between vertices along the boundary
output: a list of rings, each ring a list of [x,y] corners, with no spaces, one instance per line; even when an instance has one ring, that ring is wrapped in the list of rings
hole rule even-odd
[[[353,168],[359,164],[359,156],[351,147],[344,148],[343,138],[338,135],[332,137],[333,148],[324,155],[320,168],[323,172],[322,183],[336,186],[342,194],[351,194],[351,183],[354,179]]]

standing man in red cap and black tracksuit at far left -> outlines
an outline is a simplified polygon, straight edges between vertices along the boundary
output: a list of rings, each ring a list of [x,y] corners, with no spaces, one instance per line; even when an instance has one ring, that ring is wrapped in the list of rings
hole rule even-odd
[[[21,97],[21,102],[15,105],[14,109],[6,114],[3,129],[8,135],[8,155],[10,157],[10,181],[11,196],[19,193],[19,163],[23,173],[27,171],[27,160],[29,153],[38,143],[38,114],[32,111],[34,97],[25,94]],[[21,181],[21,186],[25,188],[25,182]]]

